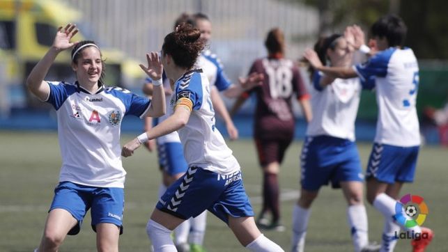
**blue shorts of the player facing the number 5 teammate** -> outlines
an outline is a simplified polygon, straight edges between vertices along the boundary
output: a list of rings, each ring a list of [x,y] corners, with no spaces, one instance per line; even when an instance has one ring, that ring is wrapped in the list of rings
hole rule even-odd
[[[307,136],[300,156],[302,188],[317,191],[332,182],[364,181],[356,143],[332,136]]]

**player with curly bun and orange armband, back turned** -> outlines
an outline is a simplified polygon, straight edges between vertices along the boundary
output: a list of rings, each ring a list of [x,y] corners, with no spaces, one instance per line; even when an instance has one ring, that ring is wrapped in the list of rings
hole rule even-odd
[[[175,130],[183,144],[189,168],[160,198],[146,227],[148,236],[155,251],[176,251],[171,230],[209,210],[229,225],[247,249],[283,251],[256,227],[240,165],[215,128],[210,84],[201,69],[194,69],[204,47],[200,36],[198,29],[181,24],[164,38],[161,62],[167,77],[174,80],[171,116],[123,146],[122,155],[129,157],[141,143]]]

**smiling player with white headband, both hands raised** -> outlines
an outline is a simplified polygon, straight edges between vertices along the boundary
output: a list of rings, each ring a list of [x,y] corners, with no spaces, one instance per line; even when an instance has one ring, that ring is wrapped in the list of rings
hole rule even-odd
[[[154,88],[152,102],[123,88],[105,87],[100,48],[93,41],[70,42],[77,31],[75,24],[60,27],[26,81],[34,95],[56,109],[63,163],[40,252],[57,251],[66,235],[79,233],[89,209],[98,251],[118,251],[126,174],[120,156],[121,120],[128,114],[157,117],[165,109],[162,86]],[[56,56],[71,47],[75,84],[44,81]],[[150,77],[156,57],[148,55],[149,70],[141,65]]]

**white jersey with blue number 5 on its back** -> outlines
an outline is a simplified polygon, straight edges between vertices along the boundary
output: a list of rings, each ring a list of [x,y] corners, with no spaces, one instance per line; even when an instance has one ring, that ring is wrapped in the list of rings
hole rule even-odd
[[[419,66],[412,49],[390,47],[355,65],[361,81],[376,87],[376,143],[409,147],[420,144],[415,102]]]

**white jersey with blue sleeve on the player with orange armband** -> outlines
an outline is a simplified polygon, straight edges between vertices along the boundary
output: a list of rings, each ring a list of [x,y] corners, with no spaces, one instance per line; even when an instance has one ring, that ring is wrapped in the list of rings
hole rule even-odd
[[[177,100],[192,101],[192,113],[187,125],[178,129],[188,166],[199,166],[219,174],[240,170],[224,138],[215,127],[215,111],[210,99],[210,84],[201,70],[192,70],[180,77],[171,97],[169,113],[173,113]]]

